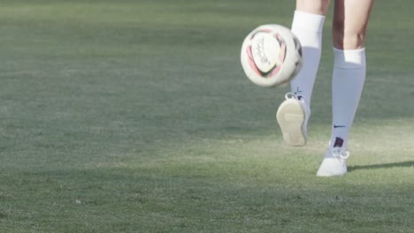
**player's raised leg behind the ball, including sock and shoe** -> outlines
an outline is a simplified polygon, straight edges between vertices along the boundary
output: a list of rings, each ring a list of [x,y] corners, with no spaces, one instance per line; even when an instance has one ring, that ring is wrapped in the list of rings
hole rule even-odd
[[[304,146],[307,123],[311,116],[311,94],[321,55],[322,29],[330,0],[296,0],[292,32],[302,44],[303,67],[291,81],[292,94],[280,104],[277,120],[284,141],[291,146]]]

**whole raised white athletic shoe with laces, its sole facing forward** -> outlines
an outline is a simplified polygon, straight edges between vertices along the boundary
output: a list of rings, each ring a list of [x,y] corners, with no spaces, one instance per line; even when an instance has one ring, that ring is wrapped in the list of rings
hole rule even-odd
[[[289,146],[303,147],[308,138],[311,109],[303,98],[299,100],[293,93],[286,94],[285,98],[276,112],[283,140]]]

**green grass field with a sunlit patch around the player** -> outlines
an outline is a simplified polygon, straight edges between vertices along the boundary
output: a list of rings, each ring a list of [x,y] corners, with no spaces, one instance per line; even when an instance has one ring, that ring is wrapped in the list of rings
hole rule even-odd
[[[332,15],[307,147],[274,119],[288,86],[242,73],[244,36],[294,7],[1,0],[0,232],[414,232],[414,2],[374,7],[341,178],[315,176]]]

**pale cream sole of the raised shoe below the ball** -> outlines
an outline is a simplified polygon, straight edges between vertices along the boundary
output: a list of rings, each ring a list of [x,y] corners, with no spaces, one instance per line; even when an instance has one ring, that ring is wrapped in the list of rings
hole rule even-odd
[[[306,136],[303,133],[305,113],[299,101],[288,99],[280,104],[276,119],[286,144],[293,147],[306,145]]]

